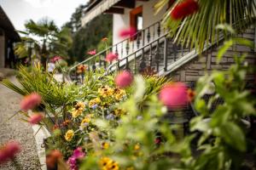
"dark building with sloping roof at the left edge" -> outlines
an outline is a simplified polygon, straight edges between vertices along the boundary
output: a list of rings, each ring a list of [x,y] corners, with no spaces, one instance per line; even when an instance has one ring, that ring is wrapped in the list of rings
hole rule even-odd
[[[0,6],[0,68],[15,66],[15,42],[20,42],[20,36]]]

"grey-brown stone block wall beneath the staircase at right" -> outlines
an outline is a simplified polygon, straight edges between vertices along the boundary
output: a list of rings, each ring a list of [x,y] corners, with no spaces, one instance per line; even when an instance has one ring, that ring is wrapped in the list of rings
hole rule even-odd
[[[255,42],[255,26],[248,28],[242,34],[239,34],[237,37],[244,37],[248,40]],[[191,82],[195,82],[198,80],[199,77],[204,76],[206,73],[210,73],[213,70],[224,71],[227,70],[230,65],[234,64],[233,56],[238,54],[247,53],[246,62],[249,65],[256,64],[256,52],[255,48],[248,48],[243,45],[234,45],[233,47],[229,48],[226,54],[224,54],[223,59],[218,64],[217,61],[217,54],[218,49],[223,45],[223,42],[209,48],[206,52],[201,54],[201,56],[197,56],[195,59],[189,61],[189,63],[183,65],[177,71],[173,71],[168,76],[172,77],[174,81],[181,81],[190,84]],[[248,81],[253,81],[255,75],[247,75]]]

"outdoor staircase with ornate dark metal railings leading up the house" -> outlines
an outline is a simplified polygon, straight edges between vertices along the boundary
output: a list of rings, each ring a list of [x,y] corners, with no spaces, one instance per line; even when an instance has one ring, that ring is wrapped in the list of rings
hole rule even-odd
[[[125,69],[135,74],[149,72],[166,76],[198,56],[195,48],[190,50],[174,43],[172,38],[168,37],[168,32],[161,27],[160,22],[138,31],[132,37],[106,48],[78,65],[89,65],[89,69],[93,71],[104,68],[106,74]],[[220,42],[223,39],[221,33],[218,37],[220,37],[218,38],[218,42]],[[208,44],[203,52],[215,43],[217,42]],[[105,61],[105,56],[109,52],[118,54],[119,60],[108,64]],[[73,79],[77,77],[75,69],[78,65],[74,65],[70,69],[69,75]]]

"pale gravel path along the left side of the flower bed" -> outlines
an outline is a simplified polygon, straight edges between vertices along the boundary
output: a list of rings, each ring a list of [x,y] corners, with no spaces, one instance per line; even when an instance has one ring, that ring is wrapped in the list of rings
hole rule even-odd
[[[14,77],[10,79],[15,81]],[[15,111],[19,110],[20,99],[20,94],[16,94],[0,84],[0,145],[10,139],[19,141],[22,150],[17,156],[17,162],[21,169],[38,170],[40,169],[40,163],[32,127],[28,123],[19,120],[22,116],[15,116],[8,122],[5,121],[8,117],[14,115]],[[11,162],[8,162],[0,165],[0,169],[15,170],[15,167]]]

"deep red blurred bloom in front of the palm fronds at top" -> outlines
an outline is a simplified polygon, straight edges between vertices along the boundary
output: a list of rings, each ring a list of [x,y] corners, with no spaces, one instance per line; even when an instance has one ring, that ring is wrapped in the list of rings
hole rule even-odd
[[[199,9],[199,4],[195,0],[184,0],[183,3],[177,4],[171,13],[173,20],[181,20],[184,17],[194,14]]]

